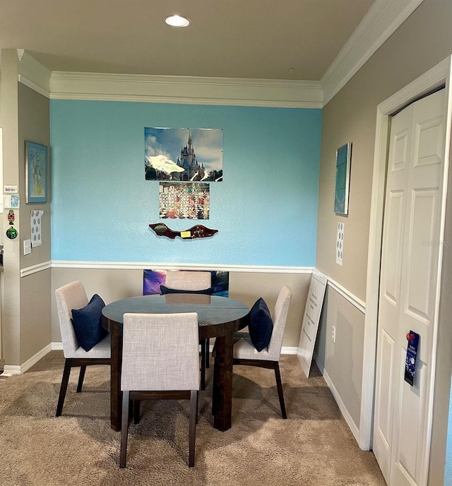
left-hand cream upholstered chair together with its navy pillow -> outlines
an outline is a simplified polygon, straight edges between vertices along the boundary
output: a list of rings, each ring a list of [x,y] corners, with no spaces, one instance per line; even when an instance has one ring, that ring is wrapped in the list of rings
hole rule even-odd
[[[59,417],[63,410],[71,368],[80,367],[77,385],[77,392],[79,393],[82,391],[87,365],[111,364],[111,361],[109,333],[106,333],[105,331],[107,334],[105,336],[105,333],[99,328],[103,307],[102,299],[100,299],[98,295],[93,295],[93,298],[88,302],[85,288],[80,280],[68,283],[55,290],[55,297],[57,300],[59,328],[61,331],[61,340],[63,342],[63,352],[65,357],[57,413],[55,414]],[[73,309],[79,311],[78,315],[80,315],[80,318],[85,325],[85,328],[79,329],[78,338],[73,325]],[[88,336],[83,336],[84,331],[86,331],[88,327],[91,328],[89,338]],[[95,343],[95,341],[98,340],[100,341]],[[89,350],[85,350],[82,344]]]

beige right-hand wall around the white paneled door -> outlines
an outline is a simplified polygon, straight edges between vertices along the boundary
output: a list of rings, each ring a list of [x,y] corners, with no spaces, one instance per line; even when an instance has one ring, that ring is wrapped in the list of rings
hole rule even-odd
[[[451,1],[424,0],[323,109],[316,265],[364,301],[376,107],[452,53],[451,25]],[[335,150],[347,142],[352,142],[349,215],[340,217],[333,213]],[[335,263],[334,245],[339,221],[345,223],[343,266]],[[362,349],[355,346],[356,337],[362,336],[364,332],[364,320],[359,314],[351,316],[343,332],[337,332],[335,351],[328,352],[328,348],[331,348],[328,343],[331,326],[338,313],[347,314],[347,307],[349,303],[341,297],[335,298],[334,302],[328,299],[326,316],[323,316],[321,322],[323,328],[320,336],[323,340],[319,343],[318,354],[326,356],[325,370],[332,377],[336,389],[340,390],[340,398],[349,404],[347,408],[355,415],[357,406],[360,406],[359,401],[355,403],[359,398],[357,384],[352,377],[344,381],[343,376],[350,372],[347,369],[350,362],[353,369],[362,369],[362,360],[365,359]],[[340,350],[337,349],[339,342]],[[347,356],[349,359],[344,360]],[[448,373],[450,381],[450,366],[444,372]],[[447,406],[448,388],[444,400]],[[439,413],[438,407],[436,413]],[[434,427],[445,425],[443,420],[441,425],[435,424]],[[440,458],[440,463],[442,458],[444,469],[444,437],[434,435],[433,451]]]

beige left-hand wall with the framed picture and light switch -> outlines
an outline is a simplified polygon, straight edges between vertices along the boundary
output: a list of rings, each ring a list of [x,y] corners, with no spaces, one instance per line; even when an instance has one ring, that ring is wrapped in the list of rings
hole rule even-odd
[[[25,203],[25,140],[50,146],[49,100],[18,83],[16,49],[1,52],[4,184],[18,186],[20,209],[15,210],[16,239],[4,239],[4,359],[20,366],[49,345],[51,339],[50,270],[20,278],[20,269],[50,260],[50,203]],[[3,189],[2,189],[3,191]],[[49,200],[48,200],[49,201]],[[30,211],[43,209],[42,247],[23,256],[23,240],[30,238]],[[3,226],[8,227],[8,211]]]

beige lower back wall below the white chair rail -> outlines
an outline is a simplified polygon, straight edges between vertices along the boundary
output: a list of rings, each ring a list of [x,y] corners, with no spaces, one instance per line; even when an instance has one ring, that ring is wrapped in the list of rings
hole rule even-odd
[[[108,304],[114,300],[143,294],[143,270],[114,270],[98,268],[52,268],[52,341],[61,342],[55,289],[73,280],[81,280],[88,298],[99,294]],[[311,275],[306,273],[230,272],[230,297],[249,306],[263,297],[270,310],[275,306],[283,285],[292,290],[289,314],[283,340],[284,346],[297,347],[302,328],[304,304]]]

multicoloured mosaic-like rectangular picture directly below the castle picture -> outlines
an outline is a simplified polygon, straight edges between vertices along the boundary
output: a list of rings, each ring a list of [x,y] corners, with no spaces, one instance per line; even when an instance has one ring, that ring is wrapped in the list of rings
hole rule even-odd
[[[209,184],[160,182],[160,218],[208,220]]]

